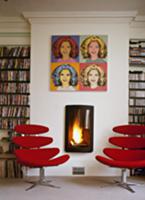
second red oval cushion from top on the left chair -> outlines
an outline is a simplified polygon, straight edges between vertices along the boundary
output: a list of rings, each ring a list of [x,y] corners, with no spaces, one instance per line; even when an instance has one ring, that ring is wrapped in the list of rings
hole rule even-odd
[[[12,141],[23,148],[39,148],[52,143],[53,139],[45,136],[15,136]]]

